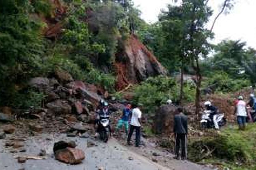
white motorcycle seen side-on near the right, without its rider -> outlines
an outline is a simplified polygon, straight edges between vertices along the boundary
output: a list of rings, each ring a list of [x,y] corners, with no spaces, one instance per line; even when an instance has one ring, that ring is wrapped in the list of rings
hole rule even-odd
[[[215,127],[213,120],[210,118],[211,112],[212,111],[204,111],[202,114],[200,123],[203,129]],[[226,124],[226,119],[224,118],[224,114],[217,114],[216,120],[218,122],[219,127],[224,126]]]

